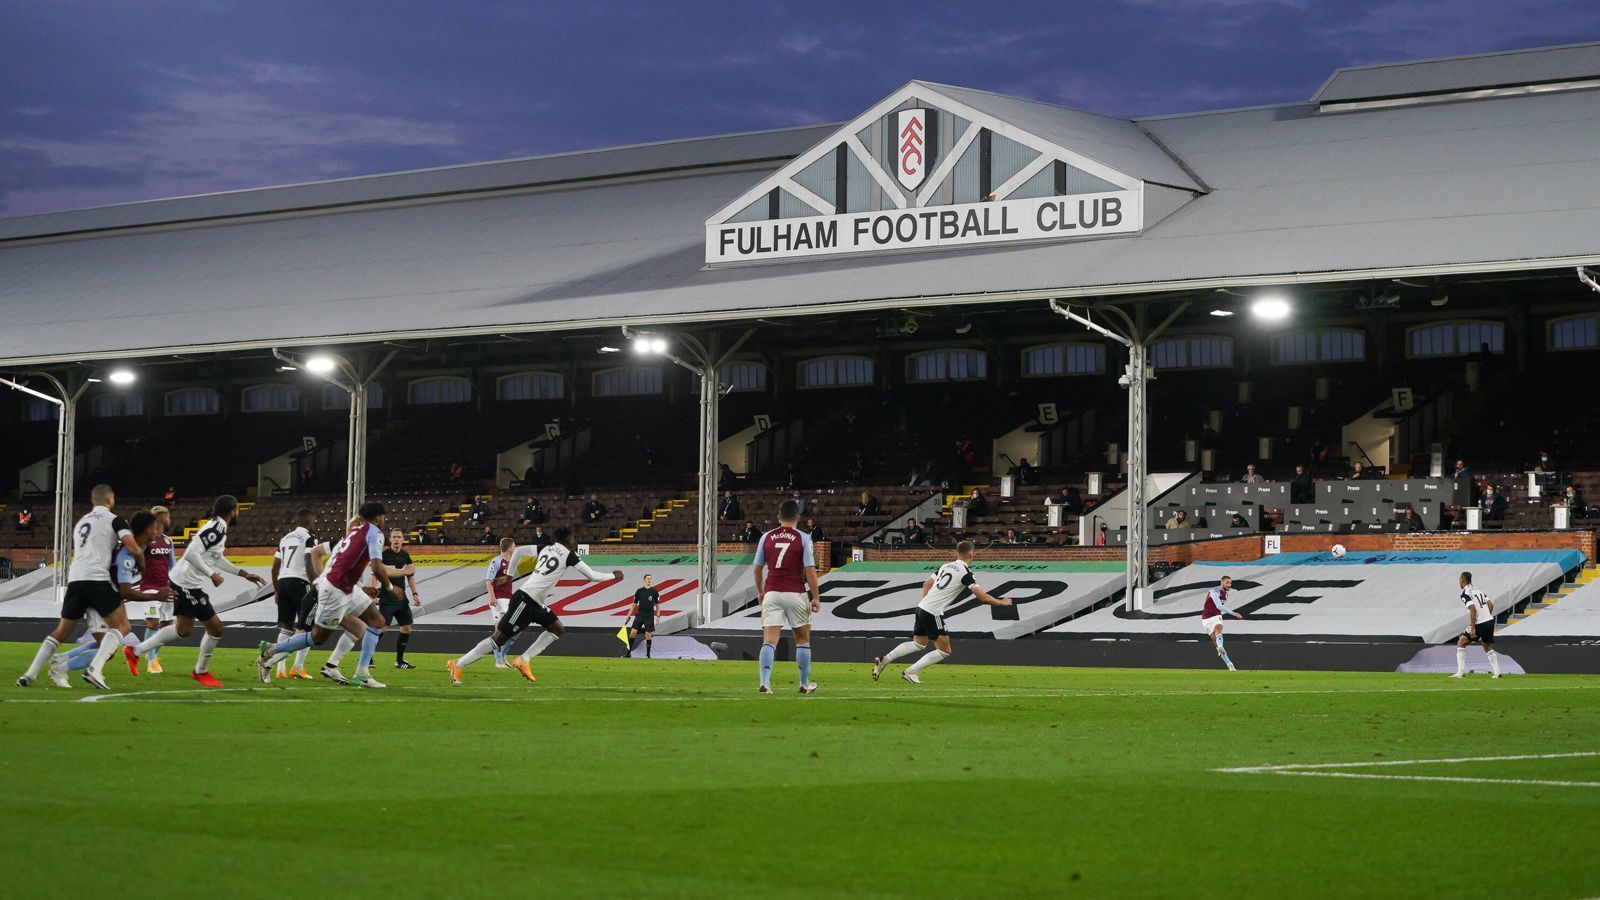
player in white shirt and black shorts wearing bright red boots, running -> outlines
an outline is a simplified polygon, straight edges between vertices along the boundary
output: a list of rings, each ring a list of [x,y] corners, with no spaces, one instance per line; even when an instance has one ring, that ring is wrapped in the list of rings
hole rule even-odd
[[[173,567],[171,581],[178,591],[178,601],[173,602],[173,625],[146,637],[138,647],[142,657],[179,637],[189,637],[198,621],[205,626],[205,634],[200,636],[200,657],[189,677],[202,687],[222,687],[222,682],[211,674],[211,655],[222,642],[222,618],[216,615],[206,588],[221,588],[224,572],[256,586],[267,583],[261,575],[245,572],[227,559],[227,530],[235,519],[238,519],[238,500],[230,493],[218,496],[211,504],[211,520],[189,538],[184,556]]]

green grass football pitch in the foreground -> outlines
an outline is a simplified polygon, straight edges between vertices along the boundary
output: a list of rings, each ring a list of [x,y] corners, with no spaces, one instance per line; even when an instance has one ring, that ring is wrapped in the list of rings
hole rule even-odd
[[[224,652],[202,693],[192,658],[93,703],[0,687],[6,895],[1600,894],[1600,788],[1214,772],[1597,751],[1590,677],[821,665],[797,697],[779,665],[757,697],[754,663],[451,687],[418,655],[362,692]],[[1600,757],[1350,772],[1402,769],[1600,781]]]

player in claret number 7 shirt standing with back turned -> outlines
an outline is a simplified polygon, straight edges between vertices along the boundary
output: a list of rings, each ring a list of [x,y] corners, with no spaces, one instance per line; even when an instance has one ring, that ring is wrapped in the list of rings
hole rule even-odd
[[[811,535],[800,524],[800,504],[786,500],[778,508],[778,527],[762,535],[755,544],[755,596],[762,597],[762,685],[758,693],[773,692],[773,658],[787,625],[795,634],[795,666],[800,669],[800,693],[816,693],[811,681],[811,613],[822,612],[816,586],[816,556]],[[806,593],[811,594],[810,602]]]

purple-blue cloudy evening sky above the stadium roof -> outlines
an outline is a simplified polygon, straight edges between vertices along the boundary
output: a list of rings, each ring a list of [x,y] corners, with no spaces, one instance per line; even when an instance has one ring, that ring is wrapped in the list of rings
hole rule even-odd
[[[0,215],[834,122],[912,78],[1136,115],[1597,38],[1595,0],[14,0]]]

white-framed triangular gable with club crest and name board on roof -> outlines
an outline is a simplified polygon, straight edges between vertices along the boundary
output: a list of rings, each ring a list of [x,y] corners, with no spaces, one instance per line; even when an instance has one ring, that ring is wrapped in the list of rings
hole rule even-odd
[[[706,219],[706,263],[1133,234],[1144,183],[912,82]]]

